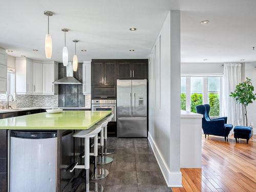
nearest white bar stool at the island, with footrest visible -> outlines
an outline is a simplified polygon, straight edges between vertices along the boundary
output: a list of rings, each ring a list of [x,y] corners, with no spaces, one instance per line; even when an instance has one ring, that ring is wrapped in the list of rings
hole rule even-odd
[[[103,186],[98,183],[90,183],[90,138],[98,136],[98,133],[102,130],[101,125],[95,124],[88,130],[81,130],[73,134],[73,137],[84,138],[84,165],[78,165],[78,162],[70,172],[73,172],[75,168],[86,169],[86,192],[97,191],[102,192]]]

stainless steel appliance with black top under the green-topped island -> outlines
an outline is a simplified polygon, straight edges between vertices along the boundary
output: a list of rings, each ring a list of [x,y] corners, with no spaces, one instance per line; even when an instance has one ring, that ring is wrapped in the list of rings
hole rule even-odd
[[[55,192],[57,132],[11,131],[10,192]]]

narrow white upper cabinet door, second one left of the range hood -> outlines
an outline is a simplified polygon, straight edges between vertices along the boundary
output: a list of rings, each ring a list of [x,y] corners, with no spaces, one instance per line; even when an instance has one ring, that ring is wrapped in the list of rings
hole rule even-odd
[[[43,64],[40,61],[33,62],[33,92],[42,94],[42,69]]]

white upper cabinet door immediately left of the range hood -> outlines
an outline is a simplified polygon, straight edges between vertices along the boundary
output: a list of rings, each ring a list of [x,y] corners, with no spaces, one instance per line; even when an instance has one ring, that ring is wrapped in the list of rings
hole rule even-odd
[[[58,85],[53,81],[58,80],[58,63],[54,61],[44,62],[43,64],[43,93],[54,95],[58,93]]]

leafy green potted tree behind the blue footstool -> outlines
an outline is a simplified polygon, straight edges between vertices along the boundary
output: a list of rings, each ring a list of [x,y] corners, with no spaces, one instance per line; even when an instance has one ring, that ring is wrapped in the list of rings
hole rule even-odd
[[[245,108],[246,126],[248,126],[247,119],[247,106],[256,99],[256,94],[253,93],[254,87],[252,86],[251,79],[246,77],[244,82],[239,83],[236,89],[230,93],[230,97],[233,97],[238,104],[242,104]]]

